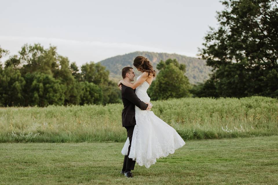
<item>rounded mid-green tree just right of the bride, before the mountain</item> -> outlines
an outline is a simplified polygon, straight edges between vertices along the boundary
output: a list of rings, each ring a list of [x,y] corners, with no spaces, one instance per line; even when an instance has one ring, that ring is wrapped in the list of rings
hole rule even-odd
[[[151,99],[169,99],[189,97],[191,85],[188,78],[184,75],[185,65],[180,65],[176,59],[160,61],[157,65],[158,73],[149,88],[148,93]]]

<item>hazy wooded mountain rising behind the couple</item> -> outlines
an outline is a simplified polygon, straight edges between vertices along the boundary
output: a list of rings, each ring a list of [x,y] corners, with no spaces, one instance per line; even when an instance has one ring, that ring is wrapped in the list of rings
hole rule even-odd
[[[203,82],[209,78],[211,73],[211,67],[206,66],[206,61],[198,58],[182,56],[178,54],[169,53],[154,53],[147,51],[136,51],[125,55],[119,55],[100,61],[100,64],[106,67],[110,71],[110,78],[114,81],[118,81],[121,78],[122,68],[125,66],[133,66],[133,60],[136,56],[144,56],[151,61],[153,68],[156,69],[156,65],[160,60],[177,59],[179,63],[186,65],[186,76],[189,78],[190,83],[196,84],[197,82]],[[139,72],[135,69],[135,74],[138,76]]]

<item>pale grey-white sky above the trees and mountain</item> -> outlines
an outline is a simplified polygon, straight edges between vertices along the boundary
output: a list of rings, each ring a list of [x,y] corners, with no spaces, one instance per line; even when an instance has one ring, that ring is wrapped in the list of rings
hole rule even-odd
[[[51,44],[79,66],[134,51],[196,57],[209,26],[217,27],[216,11],[224,9],[218,0],[0,0],[0,4],[1,48],[14,55],[26,43],[46,48]]]

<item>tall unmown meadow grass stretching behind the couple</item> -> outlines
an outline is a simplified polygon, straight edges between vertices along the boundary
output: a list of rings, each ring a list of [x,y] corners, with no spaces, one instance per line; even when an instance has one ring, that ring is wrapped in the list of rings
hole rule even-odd
[[[152,111],[187,139],[278,135],[268,97],[154,101]],[[0,142],[123,142],[122,104],[0,108]]]

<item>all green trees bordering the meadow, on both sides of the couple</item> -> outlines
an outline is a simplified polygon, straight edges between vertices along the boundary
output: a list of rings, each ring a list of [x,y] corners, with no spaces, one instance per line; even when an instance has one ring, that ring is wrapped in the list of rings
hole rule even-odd
[[[186,66],[160,61],[148,89],[152,100],[181,97],[278,98],[278,7],[271,0],[225,0],[200,56],[213,68],[210,79],[191,85]],[[0,59],[8,51],[0,48]],[[120,90],[109,71],[89,62],[79,69],[56,47],[24,45],[19,55],[0,62],[0,106],[119,103]]]

